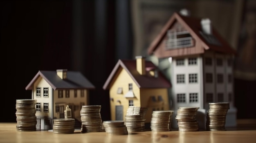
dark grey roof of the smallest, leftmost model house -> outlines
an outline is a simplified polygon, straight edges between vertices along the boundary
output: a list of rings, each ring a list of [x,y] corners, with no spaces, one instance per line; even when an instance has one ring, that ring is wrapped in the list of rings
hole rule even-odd
[[[78,71],[67,71],[67,79],[58,77],[56,71],[39,70],[36,76],[26,86],[26,90],[32,90],[33,84],[38,77],[43,77],[45,81],[54,89],[94,89],[94,85]]]

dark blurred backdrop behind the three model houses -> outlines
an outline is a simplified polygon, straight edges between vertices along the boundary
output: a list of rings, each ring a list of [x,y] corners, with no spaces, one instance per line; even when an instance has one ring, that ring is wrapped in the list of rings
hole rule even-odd
[[[182,8],[192,16],[210,18],[237,49],[237,117],[256,118],[256,44],[249,48],[244,44],[248,17],[249,31],[254,31],[249,39],[256,41],[253,0],[2,0],[0,122],[16,122],[16,99],[31,98],[31,90],[25,87],[38,70],[56,69],[81,71],[96,86],[90,90],[90,104],[101,105],[102,119],[110,120],[109,95],[102,87],[117,60],[146,56],[150,41]],[[252,63],[246,65],[248,60]]]

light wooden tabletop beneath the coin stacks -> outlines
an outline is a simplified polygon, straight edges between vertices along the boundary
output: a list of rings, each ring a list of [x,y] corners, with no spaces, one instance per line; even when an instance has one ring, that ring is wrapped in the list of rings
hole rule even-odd
[[[106,132],[55,134],[49,131],[20,132],[16,123],[0,123],[0,143],[256,143],[256,119],[240,119],[227,131],[137,132],[110,135]]]

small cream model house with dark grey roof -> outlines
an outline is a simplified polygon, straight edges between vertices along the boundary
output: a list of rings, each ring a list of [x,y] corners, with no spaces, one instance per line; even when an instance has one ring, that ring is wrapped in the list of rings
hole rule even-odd
[[[72,118],[81,121],[81,106],[88,105],[89,90],[94,89],[80,72],[66,69],[56,71],[39,70],[27,85],[36,99],[36,127],[52,129],[53,119],[64,118],[66,106],[72,110]]]

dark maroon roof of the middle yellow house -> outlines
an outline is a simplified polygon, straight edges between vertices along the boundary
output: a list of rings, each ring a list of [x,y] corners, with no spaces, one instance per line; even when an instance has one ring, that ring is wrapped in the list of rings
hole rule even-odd
[[[158,69],[152,62],[145,61],[146,70]],[[112,72],[110,73],[108,79],[103,85],[103,89],[109,89],[110,83],[114,79],[119,68],[124,68],[126,72],[130,75],[133,81],[139,88],[170,88],[171,83],[164,77],[164,75],[158,70],[158,77],[153,77],[149,75],[140,75],[136,69],[136,60],[121,60],[117,62]]]

